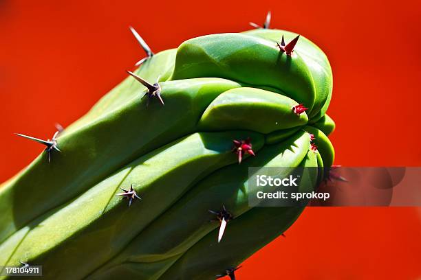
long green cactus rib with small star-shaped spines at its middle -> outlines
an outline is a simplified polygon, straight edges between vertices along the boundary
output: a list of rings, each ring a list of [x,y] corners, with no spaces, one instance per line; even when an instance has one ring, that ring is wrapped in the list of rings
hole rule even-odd
[[[140,157],[107,180],[91,187],[66,207],[55,209],[55,213],[50,213],[38,226],[33,229],[29,226],[30,231],[21,230],[27,232],[23,233],[25,240],[9,261],[19,262],[22,256],[36,258],[43,264],[44,277],[84,277],[92,267],[99,266],[124,248],[136,233],[142,231],[195,182],[213,170],[234,164],[236,158],[230,152],[230,139],[246,137],[250,133],[259,151],[264,138],[257,133],[201,132]],[[166,176],[160,176],[162,173]],[[136,186],[142,201],[134,202],[128,208],[125,200],[121,201],[115,196],[120,192],[116,186],[126,187],[131,182],[142,182]],[[59,242],[63,241],[65,244],[61,246]],[[6,242],[4,245],[0,246],[2,252],[14,250],[15,244]],[[69,252],[69,248],[77,250]],[[90,257],[91,253],[97,257]],[[6,253],[0,257],[0,262],[7,259]],[[49,268],[60,266],[63,259],[66,265],[77,266],[77,271],[70,274],[69,271],[53,271],[54,274],[50,274]]]

